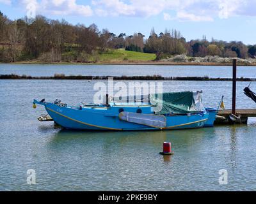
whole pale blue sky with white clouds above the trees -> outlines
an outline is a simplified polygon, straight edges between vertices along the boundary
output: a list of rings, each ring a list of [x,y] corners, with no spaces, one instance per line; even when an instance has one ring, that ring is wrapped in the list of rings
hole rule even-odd
[[[111,33],[157,34],[177,29],[187,41],[212,38],[256,44],[256,0],[0,0],[15,20],[44,15],[71,24],[94,23]]]

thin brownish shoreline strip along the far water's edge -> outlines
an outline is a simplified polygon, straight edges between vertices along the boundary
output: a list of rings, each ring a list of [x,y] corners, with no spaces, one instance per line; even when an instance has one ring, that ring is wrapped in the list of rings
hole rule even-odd
[[[102,62],[42,62],[19,61],[0,62],[0,64],[83,64],[83,65],[163,65],[163,66],[232,66],[232,62],[170,62],[170,61],[102,61]],[[256,63],[247,64],[237,62],[237,66],[256,66]]]

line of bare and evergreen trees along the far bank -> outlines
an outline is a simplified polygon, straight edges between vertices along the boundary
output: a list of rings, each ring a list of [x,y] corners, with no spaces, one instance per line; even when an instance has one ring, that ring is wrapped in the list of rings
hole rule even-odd
[[[191,57],[218,55],[220,57],[256,57],[256,45],[241,41],[208,41],[186,39],[177,30],[157,34],[154,28],[145,38],[141,33],[118,35],[108,29],[99,31],[97,25],[72,25],[66,20],[52,20],[38,15],[36,18],[10,20],[0,11],[0,61],[15,62],[39,59],[59,62],[97,61],[97,55],[111,49],[124,48],[136,52],[154,53],[156,59],[186,54]]]

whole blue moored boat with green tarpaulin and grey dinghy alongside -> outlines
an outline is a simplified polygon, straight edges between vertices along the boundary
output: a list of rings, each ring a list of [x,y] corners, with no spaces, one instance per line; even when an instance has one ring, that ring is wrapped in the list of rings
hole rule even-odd
[[[57,99],[54,103],[34,99],[33,106],[44,105],[54,122],[66,129],[133,131],[213,126],[216,110],[204,108],[200,92],[163,93],[149,98],[148,103],[114,100],[79,106],[68,106]]]

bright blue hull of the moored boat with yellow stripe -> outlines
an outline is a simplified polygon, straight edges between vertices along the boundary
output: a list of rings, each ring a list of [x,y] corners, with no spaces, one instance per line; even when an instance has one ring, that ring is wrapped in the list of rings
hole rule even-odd
[[[58,106],[53,103],[41,103],[52,117],[54,122],[67,129],[109,130],[109,131],[131,131],[131,130],[159,130],[159,129],[188,129],[202,128],[209,118],[209,114],[195,113],[191,115],[169,115],[166,117],[166,127],[154,128],[143,124],[136,124],[120,120],[118,106],[100,106],[94,108],[79,108],[69,106]],[[125,107],[127,112],[136,112],[138,108],[145,114],[152,114],[150,107]]]

